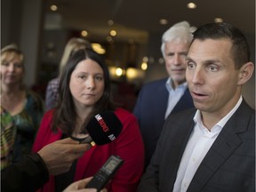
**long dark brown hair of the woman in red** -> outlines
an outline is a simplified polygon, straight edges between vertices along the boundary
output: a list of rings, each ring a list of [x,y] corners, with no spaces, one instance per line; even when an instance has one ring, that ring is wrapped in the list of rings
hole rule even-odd
[[[94,52],[90,48],[78,50],[74,52],[63,69],[63,73],[60,76],[60,86],[59,86],[59,94],[60,99],[57,107],[53,111],[52,117],[52,131],[56,132],[58,128],[62,130],[63,133],[71,135],[76,127],[76,108],[73,102],[73,96],[69,89],[70,76],[76,65],[82,60],[94,60],[100,65],[100,68],[103,69],[104,76],[104,92],[100,100],[94,105],[94,109],[90,116],[84,121],[84,125],[88,123],[89,119],[92,116],[100,113],[102,111],[107,110],[115,110],[116,105],[112,100],[111,89],[110,89],[110,77],[108,73],[108,66],[105,61],[101,58],[101,56]]]

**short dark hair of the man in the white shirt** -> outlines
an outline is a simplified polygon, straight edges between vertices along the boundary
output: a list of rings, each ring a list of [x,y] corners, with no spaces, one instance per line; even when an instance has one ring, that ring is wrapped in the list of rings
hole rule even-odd
[[[244,34],[228,23],[207,23],[197,28],[193,33],[195,39],[228,39],[232,43],[231,55],[235,61],[235,68],[241,68],[250,61],[250,48]],[[192,41],[192,43],[193,43]]]

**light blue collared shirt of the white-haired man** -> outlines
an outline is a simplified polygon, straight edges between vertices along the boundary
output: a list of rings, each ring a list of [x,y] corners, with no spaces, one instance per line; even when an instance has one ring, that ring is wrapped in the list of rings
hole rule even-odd
[[[172,88],[172,79],[169,77],[165,83],[166,89],[169,92],[169,99],[168,99],[168,106],[166,108],[164,119],[169,116],[169,114],[172,112],[172,109],[176,106],[184,92],[186,91],[188,87],[188,83],[185,82],[184,84],[180,84],[176,87],[176,89]]]

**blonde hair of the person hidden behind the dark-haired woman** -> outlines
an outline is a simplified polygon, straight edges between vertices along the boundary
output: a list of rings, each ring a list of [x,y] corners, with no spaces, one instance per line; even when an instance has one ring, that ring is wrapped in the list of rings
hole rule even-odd
[[[92,45],[90,44],[89,41],[87,41],[84,38],[72,37],[71,39],[68,40],[68,43],[65,46],[62,58],[60,60],[59,76],[61,75],[63,68],[66,66],[70,55],[73,52],[76,52],[77,50],[83,49],[83,48],[92,48]]]

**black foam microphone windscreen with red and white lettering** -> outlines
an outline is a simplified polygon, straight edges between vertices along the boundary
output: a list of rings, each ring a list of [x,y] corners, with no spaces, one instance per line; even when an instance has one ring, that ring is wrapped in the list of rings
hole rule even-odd
[[[116,140],[122,132],[123,124],[112,111],[105,111],[92,117],[86,130],[96,145],[104,145]]]

